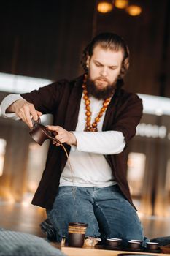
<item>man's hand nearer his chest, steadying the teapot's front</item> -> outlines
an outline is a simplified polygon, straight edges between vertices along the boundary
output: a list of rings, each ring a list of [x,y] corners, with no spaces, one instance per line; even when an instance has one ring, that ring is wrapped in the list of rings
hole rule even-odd
[[[74,133],[68,132],[66,131],[66,129],[63,129],[62,127],[53,126],[53,125],[48,125],[47,129],[53,132],[55,134],[55,138],[57,140],[60,140],[61,143],[77,146],[77,140]],[[53,140],[53,144],[56,144],[56,146],[60,146],[60,144],[56,143],[55,140]]]

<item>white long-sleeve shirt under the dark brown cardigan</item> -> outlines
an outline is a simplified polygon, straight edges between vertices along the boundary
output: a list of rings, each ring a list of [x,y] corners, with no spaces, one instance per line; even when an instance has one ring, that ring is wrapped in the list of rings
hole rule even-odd
[[[19,120],[15,113],[6,113],[6,110],[12,102],[20,98],[22,97],[19,94],[10,94],[4,98],[1,102],[1,115]],[[90,97],[92,121],[98,115],[102,103],[102,100]],[[119,154],[125,147],[125,140],[122,132],[101,132],[104,116],[105,113],[98,122],[98,132],[84,132],[85,104],[81,99],[77,127],[74,131],[77,146],[72,146],[69,154],[73,176],[67,161],[61,174],[60,186],[72,186],[72,178],[74,186],[78,187],[108,187],[116,183],[104,154]]]

